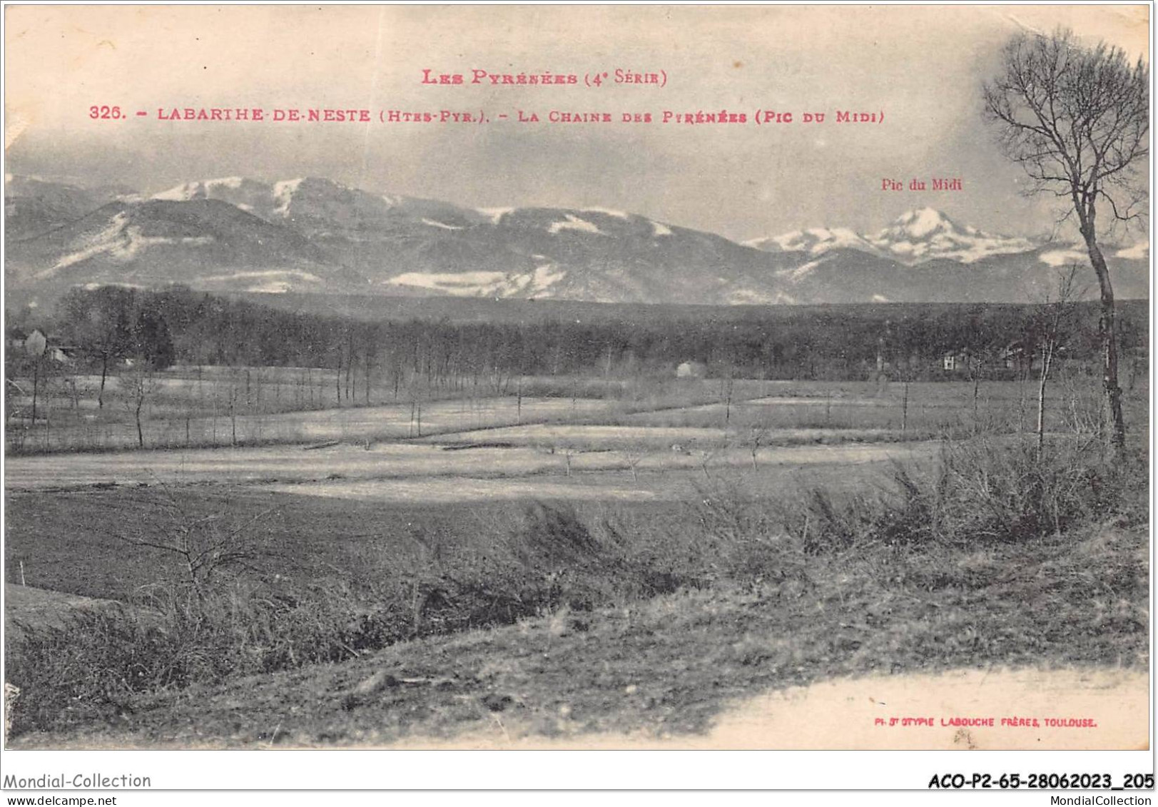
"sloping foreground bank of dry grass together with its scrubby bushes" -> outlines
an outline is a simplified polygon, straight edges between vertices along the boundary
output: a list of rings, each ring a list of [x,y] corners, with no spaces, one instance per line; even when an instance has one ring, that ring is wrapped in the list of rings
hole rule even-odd
[[[182,711],[183,692],[221,685],[221,698],[241,697],[254,719],[272,720],[274,694],[262,696],[259,678],[233,689],[235,676],[343,659],[345,672],[295,674],[316,704],[281,716],[292,741],[449,733],[519,704],[532,710],[527,731],[548,735],[660,724],[702,732],[752,688],[831,675],[1144,665],[1139,468],[1107,467],[1072,446],[1039,457],[979,443],[947,449],[936,474],[899,468],[896,484],[872,497],[815,491],[775,505],[705,482],[680,529],[643,513],[550,504],[481,523],[469,540],[418,526],[406,555],[362,544],[361,582],[229,578],[196,596],[170,585],[149,589],[159,624],[101,610],[31,632],[9,654],[22,690],[14,725],[116,725],[171,741],[167,726],[190,720],[203,736],[244,743],[236,718],[219,722],[200,703]],[[657,596],[666,599],[640,604]],[[651,616],[631,617],[640,612]],[[373,654],[511,623],[485,639]],[[390,672],[358,689],[350,676],[368,674],[367,653]],[[609,685],[647,690],[624,706]],[[569,706],[562,728],[557,712],[534,717],[542,703]]]

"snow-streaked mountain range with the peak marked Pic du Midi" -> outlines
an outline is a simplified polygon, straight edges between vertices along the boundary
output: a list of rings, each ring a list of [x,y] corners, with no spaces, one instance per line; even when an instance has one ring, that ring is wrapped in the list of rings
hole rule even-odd
[[[664,303],[1033,302],[1083,248],[992,235],[932,208],[877,233],[738,243],[604,208],[475,210],[316,177],[199,179],[145,196],[8,175],[9,294],[183,284],[212,292]],[[1149,247],[1104,250],[1117,296],[1149,294]],[[1083,276],[1085,277],[1085,276]]]

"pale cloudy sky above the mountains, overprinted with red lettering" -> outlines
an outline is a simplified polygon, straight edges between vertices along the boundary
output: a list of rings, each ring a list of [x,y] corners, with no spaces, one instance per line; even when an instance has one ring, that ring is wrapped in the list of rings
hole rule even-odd
[[[1018,30],[1073,28],[1149,61],[1146,6],[6,7],[7,173],[157,192],[182,182],[324,176],[474,207],[598,206],[746,240],[873,232],[931,206],[995,233],[1054,215],[981,117]],[[424,85],[423,71],[463,85]],[[471,85],[472,71],[574,86]],[[657,73],[664,86],[615,83]],[[600,87],[585,76],[608,73]],[[127,119],[89,118],[118,105]],[[371,123],[159,120],[171,108],[369,109]],[[381,123],[382,110],[486,124]],[[135,111],[148,112],[137,117]],[[535,113],[538,123],[519,123]],[[610,124],[550,124],[550,111]],[[746,124],[661,124],[662,112]],[[755,125],[757,110],[793,123]],[[884,112],[836,123],[838,110]],[[806,124],[804,112],[823,112]],[[653,123],[622,123],[651,112]],[[507,115],[507,119],[499,119]],[[960,178],[933,191],[932,177]],[[881,190],[901,181],[902,191]],[[909,190],[911,179],[925,190]]]

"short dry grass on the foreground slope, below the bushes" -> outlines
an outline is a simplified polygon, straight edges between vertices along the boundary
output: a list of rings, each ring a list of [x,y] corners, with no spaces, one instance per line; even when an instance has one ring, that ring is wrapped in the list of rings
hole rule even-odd
[[[833,676],[1145,669],[1144,530],[1091,527],[987,553],[917,553],[915,564],[959,570],[935,587],[867,562],[818,558],[783,579],[560,608],[347,663],[140,696],[111,724],[15,743],[331,747],[460,734],[648,742],[702,736],[739,699]]]

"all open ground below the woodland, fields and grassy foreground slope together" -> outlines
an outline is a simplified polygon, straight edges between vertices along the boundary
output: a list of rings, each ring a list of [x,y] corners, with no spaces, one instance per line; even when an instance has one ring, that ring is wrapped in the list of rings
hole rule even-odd
[[[1049,393],[1042,464],[1011,382],[976,409],[952,383],[536,383],[552,395],[424,402],[420,435],[408,402],[190,417],[188,448],[157,417],[146,446],[174,448],[8,456],[6,582],[28,588],[6,618],[16,678],[42,681],[17,742],[694,747],[834,677],[982,663],[1121,669],[1137,696],[1144,512],[1086,470],[1089,390]],[[1131,393],[1131,424],[1146,404]],[[87,447],[135,445],[115,426]],[[969,441],[945,438],[974,433],[953,460]],[[236,536],[244,563],[193,582],[179,535]],[[160,667],[127,689],[45,683],[145,646]]]

